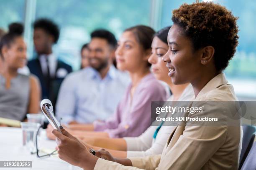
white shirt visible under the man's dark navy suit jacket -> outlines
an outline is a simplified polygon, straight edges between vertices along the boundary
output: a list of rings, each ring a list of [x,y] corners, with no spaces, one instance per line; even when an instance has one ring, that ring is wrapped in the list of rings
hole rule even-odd
[[[55,76],[55,72],[56,72],[56,67],[57,67],[57,58],[54,55],[54,53],[51,53],[49,55],[43,54],[39,56],[39,61],[41,64],[41,68],[42,68],[42,72],[44,75],[47,75],[47,61],[46,58],[48,59],[48,63],[49,63],[49,70],[50,70],[50,75],[51,77]]]

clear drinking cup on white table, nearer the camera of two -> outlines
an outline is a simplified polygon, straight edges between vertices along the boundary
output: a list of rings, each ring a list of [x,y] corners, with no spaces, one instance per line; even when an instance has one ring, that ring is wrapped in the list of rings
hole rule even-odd
[[[36,132],[41,126],[34,122],[21,122],[23,146],[33,153],[36,150]]]

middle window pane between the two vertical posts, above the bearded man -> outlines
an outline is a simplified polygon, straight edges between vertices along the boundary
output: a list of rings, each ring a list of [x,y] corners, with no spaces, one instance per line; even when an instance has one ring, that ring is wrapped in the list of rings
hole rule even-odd
[[[90,41],[90,32],[96,28],[112,31],[116,38],[125,28],[136,24],[149,25],[148,0],[38,0],[36,19],[51,18],[61,28],[54,51],[59,58],[77,70],[80,65],[80,47]]]

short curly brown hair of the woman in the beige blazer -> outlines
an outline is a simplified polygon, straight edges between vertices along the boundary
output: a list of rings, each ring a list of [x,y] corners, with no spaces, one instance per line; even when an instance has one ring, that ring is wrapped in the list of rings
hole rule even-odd
[[[173,10],[172,21],[192,40],[194,50],[208,45],[214,47],[217,71],[228,66],[238,45],[237,17],[225,7],[213,2],[184,3]]]

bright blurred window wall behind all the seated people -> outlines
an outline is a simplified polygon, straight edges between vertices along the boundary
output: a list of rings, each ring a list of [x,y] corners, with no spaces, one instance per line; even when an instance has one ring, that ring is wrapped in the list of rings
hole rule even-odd
[[[239,16],[239,45],[225,74],[237,95],[256,97],[256,1],[208,1],[220,3]],[[0,27],[7,30],[10,23],[23,22],[26,13],[25,37],[29,40],[28,50],[31,54],[33,40],[28,29],[31,21],[34,17],[54,20],[61,28],[54,52],[77,70],[80,67],[80,47],[90,41],[92,30],[106,28],[117,38],[125,28],[137,24],[154,25],[159,30],[172,25],[172,10],[184,2],[191,4],[195,0],[5,0],[0,2]],[[33,3],[36,3],[36,8]]]

